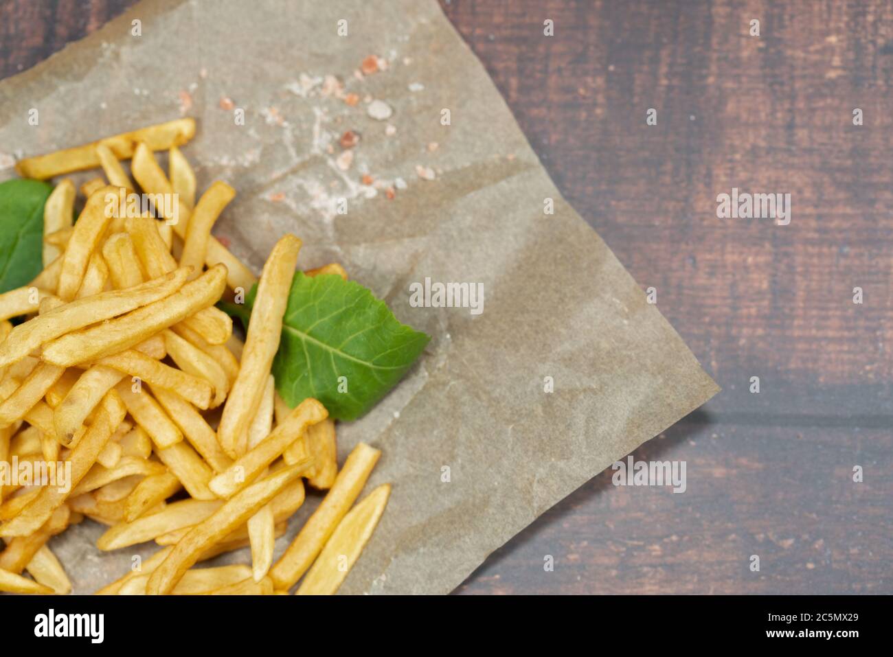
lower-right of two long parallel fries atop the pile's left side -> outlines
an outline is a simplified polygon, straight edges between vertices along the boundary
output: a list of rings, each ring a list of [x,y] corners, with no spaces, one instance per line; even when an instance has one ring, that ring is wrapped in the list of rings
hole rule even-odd
[[[226,269],[214,267],[166,299],[144,305],[96,327],[56,338],[44,346],[42,358],[68,367],[128,349],[163,328],[213,305],[220,298],[225,284]]]

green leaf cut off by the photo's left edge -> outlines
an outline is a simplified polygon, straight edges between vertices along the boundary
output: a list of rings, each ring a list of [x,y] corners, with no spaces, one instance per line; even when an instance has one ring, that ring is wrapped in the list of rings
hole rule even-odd
[[[0,293],[28,285],[43,270],[44,204],[52,191],[39,180],[0,183]]]

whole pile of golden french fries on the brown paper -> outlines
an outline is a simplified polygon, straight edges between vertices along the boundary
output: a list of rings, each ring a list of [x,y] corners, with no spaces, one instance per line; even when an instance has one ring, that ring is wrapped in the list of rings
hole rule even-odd
[[[0,295],[0,462],[71,472],[68,487],[0,486],[0,591],[71,592],[47,542],[89,518],[108,526],[99,550],[160,546],[100,594],[283,594],[302,577],[298,594],[332,594],[388,502],[384,485],[355,504],[379,450],[356,445],[338,470],[322,404],[291,409],[277,395],[271,363],[301,241],[282,237],[255,279],[211,235],[235,192],[215,182],[196,203],[179,150],[195,129],[170,121],[17,166],[35,179],[96,167],[104,178],[81,187],[76,222],[75,186],[58,182],[44,270]],[[175,199],[155,203],[171,216],[108,212],[112,196],[138,189]],[[338,264],[306,273],[346,278]],[[214,304],[255,282],[243,343]],[[274,562],[305,479],[328,492]],[[196,568],[245,546],[250,564]]]

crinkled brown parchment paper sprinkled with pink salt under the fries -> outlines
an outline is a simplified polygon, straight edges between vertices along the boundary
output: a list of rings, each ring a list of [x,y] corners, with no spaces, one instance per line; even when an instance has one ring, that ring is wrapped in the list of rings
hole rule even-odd
[[[370,54],[387,69],[361,76]],[[347,104],[348,93],[359,103]],[[244,125],[221,99],[244,110]],[[371,118],[375,100],[388,119]],[[200,191],[215,179],[238,191],[215,233],[255,271],[294,232],[305,242],[300,266],[342,262],[433,337],[370,415],[339,426],[342,460],[360,440],[383,451],[366,490],[393,484],[343,593],[449,592],[548,507],[717,392],[563,201],[434,0],[146,0],[0,83],[0,178],[14,175],[15,158],[182,114],[198,121],[184,153]],[[344,170],[347,129],[361,140]],[[544,214],[547,197],[554,215]],[[411,307],[409,286],[426,277],[482,283],[483,312]],[[309,496],[277,555],[318,501]],[[102,530],[84,522],[54,538],[76,593],[156,549],[99,553]],[[225,561],[248,561],[247,551]]]

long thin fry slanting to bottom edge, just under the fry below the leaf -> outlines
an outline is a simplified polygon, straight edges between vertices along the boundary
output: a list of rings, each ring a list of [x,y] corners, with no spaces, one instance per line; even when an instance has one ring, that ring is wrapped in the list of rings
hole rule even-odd
[[[271,474],[234,495],[209,518],[189,530],[161,565],[155,569],[146,585],[149,595],[167,594],[177,585],[199,557],[215,543],[238,528],[271,501],[283,487],[301,474],[301,468],[291,466]]]

